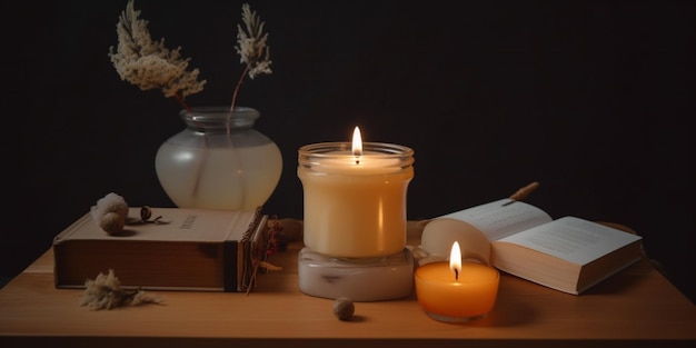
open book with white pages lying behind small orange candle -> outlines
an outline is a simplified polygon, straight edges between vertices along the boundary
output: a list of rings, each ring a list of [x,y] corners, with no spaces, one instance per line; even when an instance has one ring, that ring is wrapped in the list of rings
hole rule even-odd
[[[640,259],[637,235],[576,217],[554,220],[523,201],[501,199],[440,218],[484,232],[494,267],[568,294],[579,295]]]

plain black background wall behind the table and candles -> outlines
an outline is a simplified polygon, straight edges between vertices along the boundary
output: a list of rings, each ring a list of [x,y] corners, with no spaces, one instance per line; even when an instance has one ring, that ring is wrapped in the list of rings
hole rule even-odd
[[[179,106],[118,77],[120,1],[14,3],[3,11],[6,228],[13,277],[108,192],[172,206],[159,145]],[[7,6],[8,2],[4,2]],[[153,39],[208,80],[192,106],[228,105],[241,1],[136,1]],[[302,218],[297,149],[349,140],[416,150],[409,219],[507,197],[554,218],[614,221],[696,299],[694,1],[250,1],[274,73],[239,105],[284,156],[265,211]],[[10,14],[11,13],[11,14]],[[12,27],[10,27],[12,24]],[[9,136],[9,137],[8,137]]]

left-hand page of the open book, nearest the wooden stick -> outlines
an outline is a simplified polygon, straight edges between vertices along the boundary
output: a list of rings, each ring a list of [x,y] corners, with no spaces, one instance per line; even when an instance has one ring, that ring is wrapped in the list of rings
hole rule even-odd
[[[509,198],[448,213],[441,218],[468,222],[491,241],[553,220],[544,210]]]

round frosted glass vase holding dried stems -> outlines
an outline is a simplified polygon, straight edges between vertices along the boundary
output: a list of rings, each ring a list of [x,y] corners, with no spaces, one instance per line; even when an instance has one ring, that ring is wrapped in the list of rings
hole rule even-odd
[[[256,210],[282,171],[278,146],[253,128],[251,108],[181,110],[187,128],[167,139],[155,159],[157,177],[179,208]]]

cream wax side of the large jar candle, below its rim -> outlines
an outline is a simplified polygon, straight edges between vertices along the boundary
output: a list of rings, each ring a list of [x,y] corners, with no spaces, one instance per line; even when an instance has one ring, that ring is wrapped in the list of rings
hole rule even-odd
[[[406,186],[412,170],[390,175],[312,175],[305,189],[305,245],[337,257],[375,257],[406,246]]]

